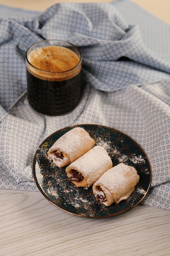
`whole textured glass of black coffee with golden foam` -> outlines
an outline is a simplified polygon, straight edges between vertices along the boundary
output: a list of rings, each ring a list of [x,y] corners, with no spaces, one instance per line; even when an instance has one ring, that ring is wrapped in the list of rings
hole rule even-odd
[[[26,52],[28,101],[44,115],[71,112],[81,98],[82,55],[71,43],[43,40]]]

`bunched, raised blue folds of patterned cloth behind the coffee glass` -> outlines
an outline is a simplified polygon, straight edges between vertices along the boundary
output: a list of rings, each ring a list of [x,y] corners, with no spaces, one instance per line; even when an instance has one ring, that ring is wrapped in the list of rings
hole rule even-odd
[[[6,81],[0,104],[5,110],[26,92],[24,56],[29,46],[42,39],[67,40],[79,47],[84,80],[91,86],[95,80],[98,90],[115,91],[131,83],[170,78],[167,58],[153,56],[141,39],[139,27],[128,25],[113,4],[55,4],[35,17],[1,18],[0,27],[1,84]],[[126,59],[122,61],[122,57]],[[131,74],[131,66],[135,75]],[[4,104],[7,90],[10,99]]]

